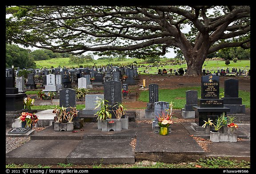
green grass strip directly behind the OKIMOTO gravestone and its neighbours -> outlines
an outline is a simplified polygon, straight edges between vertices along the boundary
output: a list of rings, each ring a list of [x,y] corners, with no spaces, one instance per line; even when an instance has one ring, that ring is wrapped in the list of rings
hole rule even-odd
[[[186,91],[187,90],[196,90],[198,98],[201,98],[201,87],[186,87],[178,89],[159,89],[158,91],[158,101],[172,102],[174,109],[184,108],[186,104]],[[224,89],[220,88],[220,93],[223,93]],[[250,92],[239,90],[239,97],[242,98],[242,104],[246,108],[250,108]],[[149,94],[148,91],[142,91],[140,93],[139,101],[148,102]]]

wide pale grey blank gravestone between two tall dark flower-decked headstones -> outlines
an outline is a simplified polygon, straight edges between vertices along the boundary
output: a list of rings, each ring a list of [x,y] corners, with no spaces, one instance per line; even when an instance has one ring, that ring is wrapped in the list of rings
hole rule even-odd
[[[96,108],[96,101],[101,98],[104,100],[104,94],[86,94],[85,95],[85,108],[82,110],[83,115],[94,115],[96,112],[100,110],[100,108]],[[95,116],[97,119],[97,116]]]

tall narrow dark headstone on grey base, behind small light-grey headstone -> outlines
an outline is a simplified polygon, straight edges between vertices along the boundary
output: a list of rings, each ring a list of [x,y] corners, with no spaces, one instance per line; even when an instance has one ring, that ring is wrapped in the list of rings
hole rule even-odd
[[[155,102],[158,102],[158,85],[148,85],[149,102],[145,109],[145,118],[154,118]]]

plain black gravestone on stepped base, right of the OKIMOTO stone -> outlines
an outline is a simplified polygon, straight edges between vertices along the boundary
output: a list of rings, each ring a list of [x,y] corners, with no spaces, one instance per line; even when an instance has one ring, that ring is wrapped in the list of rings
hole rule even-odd
[[[224,81],[224,106],[230,108],[228,114],[244,114],[245,105],[242,104],[242,98],[239,97],[239,81],[237,79],[227,79]]]

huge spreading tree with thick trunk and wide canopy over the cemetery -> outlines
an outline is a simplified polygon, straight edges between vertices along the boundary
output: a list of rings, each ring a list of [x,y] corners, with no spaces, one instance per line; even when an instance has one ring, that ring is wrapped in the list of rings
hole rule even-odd
[[[136,58],[172,47],[184,54],[188,76],[202,74],[207,54],[250,48],[250,6],[16,6],[6,14],[7,43]]]

